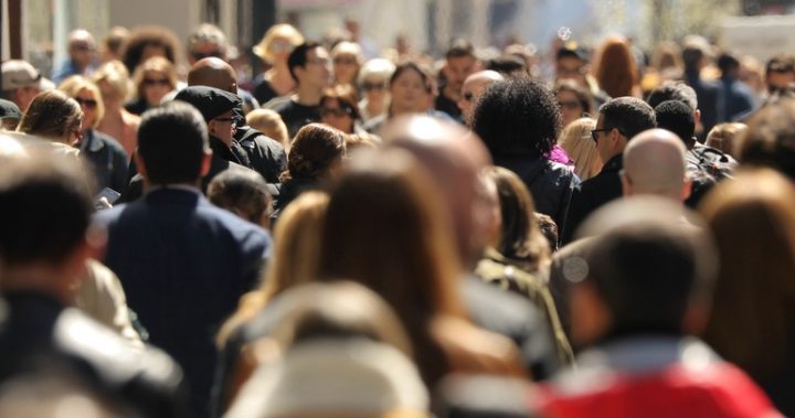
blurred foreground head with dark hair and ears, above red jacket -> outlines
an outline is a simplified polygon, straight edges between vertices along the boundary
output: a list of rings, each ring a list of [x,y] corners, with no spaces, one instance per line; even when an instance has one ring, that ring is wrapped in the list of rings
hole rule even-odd
[[[678,214],[671,216],[672,214]],[[668,200],[635,196],[600,210],[621,219],[593,237],[571,290],[572,340],[695,334],[706,324],[717,259],[702,228]],[[573,270],[572,270],[573,271]],[[576,278],[574,278],[576,276]]]

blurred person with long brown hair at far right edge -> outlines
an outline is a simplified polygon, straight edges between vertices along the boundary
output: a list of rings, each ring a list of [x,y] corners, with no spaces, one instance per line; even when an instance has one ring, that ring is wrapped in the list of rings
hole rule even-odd
[[[699,212],[720,254],[704,341],[750,374],[791,416],[795,189],[771,169],[748,170],[716,186]]]

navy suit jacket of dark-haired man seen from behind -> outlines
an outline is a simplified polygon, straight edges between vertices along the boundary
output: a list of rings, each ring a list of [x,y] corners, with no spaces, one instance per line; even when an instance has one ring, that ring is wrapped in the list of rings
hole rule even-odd
[[[124,286],[150,341],[184,368],[197,417],[206,415],[213,337],[271,250],[258,226],[213,206],[199,190],[156,189],[100,212],[105,264]]]

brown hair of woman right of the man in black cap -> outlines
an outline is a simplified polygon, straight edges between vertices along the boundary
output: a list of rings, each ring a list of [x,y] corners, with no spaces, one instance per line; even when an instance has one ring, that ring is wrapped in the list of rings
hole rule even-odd
[[[337,159],[344,157],[344,137],[342,131],[324,124],[300,128],[287,157],[287,171],[279,180],[319,178]]]

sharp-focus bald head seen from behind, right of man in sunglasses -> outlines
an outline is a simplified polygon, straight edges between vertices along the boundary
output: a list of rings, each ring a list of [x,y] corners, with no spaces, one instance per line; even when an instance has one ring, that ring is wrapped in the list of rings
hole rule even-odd
[[[683,201],[690,194],[685,144],[675,133],[650,129],[624,150],[624,194],[655,194]]]

